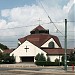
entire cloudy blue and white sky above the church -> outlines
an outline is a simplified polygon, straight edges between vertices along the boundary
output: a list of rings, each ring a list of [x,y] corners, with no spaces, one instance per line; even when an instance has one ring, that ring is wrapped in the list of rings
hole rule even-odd
[[[40,24],[58,36],[64,47],[67,19],[67,47],[75,48],[74,7],[74,0],[0,0],[0,43],[16,48],[18,39]]]

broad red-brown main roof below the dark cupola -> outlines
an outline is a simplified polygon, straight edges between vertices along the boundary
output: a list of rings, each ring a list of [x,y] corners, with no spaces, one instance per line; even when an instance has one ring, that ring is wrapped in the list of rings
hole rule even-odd
[[[55,42],[58,44],[59,47],[61,47],[60,41],[57,36],[50,35],[50,34],[32,34],[28,35],[26,37],[18,39],[21,43],[28,40],[29,42],[33,43],[34,45],[41,47],[45,42],[47,42],[49,39],[53,38]]]

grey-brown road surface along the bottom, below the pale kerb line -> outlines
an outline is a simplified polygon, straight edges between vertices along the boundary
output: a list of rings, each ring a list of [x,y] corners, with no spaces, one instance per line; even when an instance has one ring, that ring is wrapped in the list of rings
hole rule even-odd
[[[36,72],[32,72],[36,71]],[[44,73],[46,71],[46,73]],[[47,71],[52,71],[51,73],[47,73]],[[59,71],[59,73],[53,73]],[[26,68],[0,68],[0,75],[75,75],[73,74],[63,74],[60,72],[60,68],[32,68],[32,67],[26,67]]]

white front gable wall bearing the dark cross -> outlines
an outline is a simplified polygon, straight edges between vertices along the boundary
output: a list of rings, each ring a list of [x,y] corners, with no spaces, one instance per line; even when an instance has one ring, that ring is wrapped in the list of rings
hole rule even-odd
[[[27,48],[27,52],[26,52],[26,46]],[[38,53],[43,53],[44,56],[46,57],[46,52],[44,52],[43,50],[41,50],[40,48],[38,48],[37,46],[33,45],[32,43],[30,43],[29,41],[25,41],[23,44],[21,44],[17,49],[15,49],[11,54],[14,55],[16,62],[21,62],[20,57],[28,57],[28,56],[36,56]],[[35,61],[35,59],[34,59]]]

